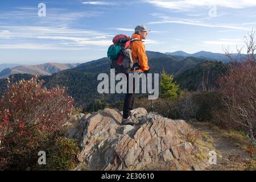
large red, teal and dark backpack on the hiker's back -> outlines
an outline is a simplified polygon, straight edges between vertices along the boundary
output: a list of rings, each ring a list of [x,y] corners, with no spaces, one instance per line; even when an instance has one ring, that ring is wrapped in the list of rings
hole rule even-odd
[[[130,36],[123,34],[114,36],[114,44],[108,48],[108,58],[111,61],[110,68],[115,69],[116,74],[131,72],[134,62],[131,56],[130,43],[136,40],[139,39],[131,39]]]

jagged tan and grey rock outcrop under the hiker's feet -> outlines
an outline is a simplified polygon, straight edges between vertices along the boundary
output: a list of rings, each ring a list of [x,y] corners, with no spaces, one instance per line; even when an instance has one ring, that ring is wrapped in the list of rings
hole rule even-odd
[[[104,109],[65,123],[64,134],[80,141],[79,165],[89,170],[204,170],[209,148],[195,142],[195,129],[183,120],[137,108],[137,125],[122,125],[122,112]]]

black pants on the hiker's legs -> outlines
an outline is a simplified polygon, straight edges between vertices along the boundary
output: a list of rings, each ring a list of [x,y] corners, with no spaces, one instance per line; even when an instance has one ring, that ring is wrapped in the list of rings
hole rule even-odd
[[[126,74],[127,78],[127,93],[125,95],[125,102],[123,103],[123,118],[129,117],[129,111],[134,109],[134,98],[135,98],[135,80],[133,79],[133,93],[129,93],[129,74]]]

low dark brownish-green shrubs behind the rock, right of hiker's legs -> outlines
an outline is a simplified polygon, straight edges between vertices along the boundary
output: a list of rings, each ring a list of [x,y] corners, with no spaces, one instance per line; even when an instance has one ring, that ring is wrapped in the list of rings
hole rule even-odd
[[[177,100],[158,98],[152,101],[154,111],[171,119],[197,118],[199,121],[213,121],[214,111],[222,109],[220,97],[216,92],[184,92]],[[147,98],[137,99],[136,107],[151,111],[151,102]]]

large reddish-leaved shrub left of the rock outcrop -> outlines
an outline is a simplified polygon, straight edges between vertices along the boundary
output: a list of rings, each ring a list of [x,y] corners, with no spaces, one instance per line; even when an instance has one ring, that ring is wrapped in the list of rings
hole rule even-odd
[[[0,100],[0,169],[26,169],[36,164],[63,123],[73,99],[65,88],[46,89],[35,75],[10,84]]]

